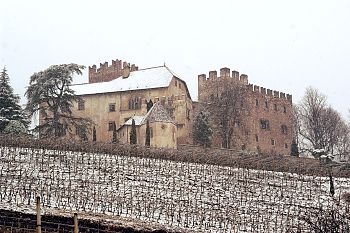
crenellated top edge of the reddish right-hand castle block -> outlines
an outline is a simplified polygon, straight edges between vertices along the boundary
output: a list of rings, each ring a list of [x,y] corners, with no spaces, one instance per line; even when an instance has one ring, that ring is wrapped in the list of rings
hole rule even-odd
[[[220,76],[218,77],[218,72],[216,70],[209,71],[209,77],[207,78],[206,74],[200,74],[198,75],[198,96],[199,99],[202,98],[205,92],[207,92],[207,88],[210,88],[211,83],[215,82],[216,80],[219,81],[220,79],[233,79],[234,82],[241,83],[246,85],[247,91],[251,91],[253,93],[259,93],[264,96],[269,96],[271,98],[280,98],[280,99],[286,99],[290,103],[292,103],[292,95],[285,94],[283,92],[271,90],[265,87],[260,87],[257,85],[250,84],[248,82],[248,75],[241,74],[239,75],[238,71],[233,70],[230,74],[230,69],[227,67],[220,69]]]

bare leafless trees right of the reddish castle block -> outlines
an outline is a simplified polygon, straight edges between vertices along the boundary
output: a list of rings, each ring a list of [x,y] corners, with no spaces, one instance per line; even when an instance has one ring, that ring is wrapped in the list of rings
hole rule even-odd
[[[339,154],[339,145],[348,130],[341,115],[327,104],[327,98],[317,89],[308,88],[295,108],[298,119],[299,144],[304,151],[323,149],[325,153]]]

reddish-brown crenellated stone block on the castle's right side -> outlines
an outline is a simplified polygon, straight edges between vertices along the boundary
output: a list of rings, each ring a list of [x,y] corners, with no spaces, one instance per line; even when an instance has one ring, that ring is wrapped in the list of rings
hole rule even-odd
[[[230,144],[248,151],[289,155],[293,140],[292,96],[249,84],[247,75],[222,68],[219,76],[217,71],[210,71],[209,77],[198,75],[199,104],[210,104],[213,96],[222,94],[227,82],[242,86],[248,109],[240,122],[235,122]],[[213,146],[221,147],[220,133],[214,130],[213,134]]]

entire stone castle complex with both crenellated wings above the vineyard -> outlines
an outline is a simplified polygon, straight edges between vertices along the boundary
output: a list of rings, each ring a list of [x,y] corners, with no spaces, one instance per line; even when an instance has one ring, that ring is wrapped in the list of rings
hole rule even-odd
[[[131,119],[137,123],[138,144],[145,145],[148,111],[168,116],[152,121],[151,146],[176,148],[192,144],[193,112],[197,105],[210,104],[220,96],[225,82],[244,87],[247,114],[235,122],[232,148],[275,154],[290,154],[293,140],[292,96],[249,84],[248,76],[229,68],[198,75],[198,103],[192,101],[186,82],[165,65],[139,69],[121,60],[89,67],[89,83],[72,86],[82,99],[74,105],[74,114],[95,122],[89,140],[112,141],[117,131],[120,142],[129,143]],[[152,119],[155,119],[154,117]],[[165,120],[166,119],[166,120]],[[171,119],[171,121],[169,121]],[[215,123],[215,120],[214,120]],[[215,127],[214,127],[215,128]],[[236,129],[237,128],[237,129]],[[222,135],[214,130],[213,146],[223,147]]]

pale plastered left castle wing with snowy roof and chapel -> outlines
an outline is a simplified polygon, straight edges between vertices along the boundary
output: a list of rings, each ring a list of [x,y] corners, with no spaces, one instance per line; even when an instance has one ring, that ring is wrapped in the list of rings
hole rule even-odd
[[[145,144],[145,119],[152,119],[151,146],[176,148],[178,143],[192,143],[190,93],[186,83],[165,65],[139,69],[120,60],[112,61],[111,66],[100,64],[98,69],[93,65],[89,67],[89,83],[73,85],[72,89],[82,99],[75,103],[73,114],[94,122],[88,140],[111,142],[117,131],[118,140],[128,143],[130,119],[135,118],[140,120],[138,144]],[[153,104],[150,118],[147,113]],[[169,116],[155,116],[164,112]]]

